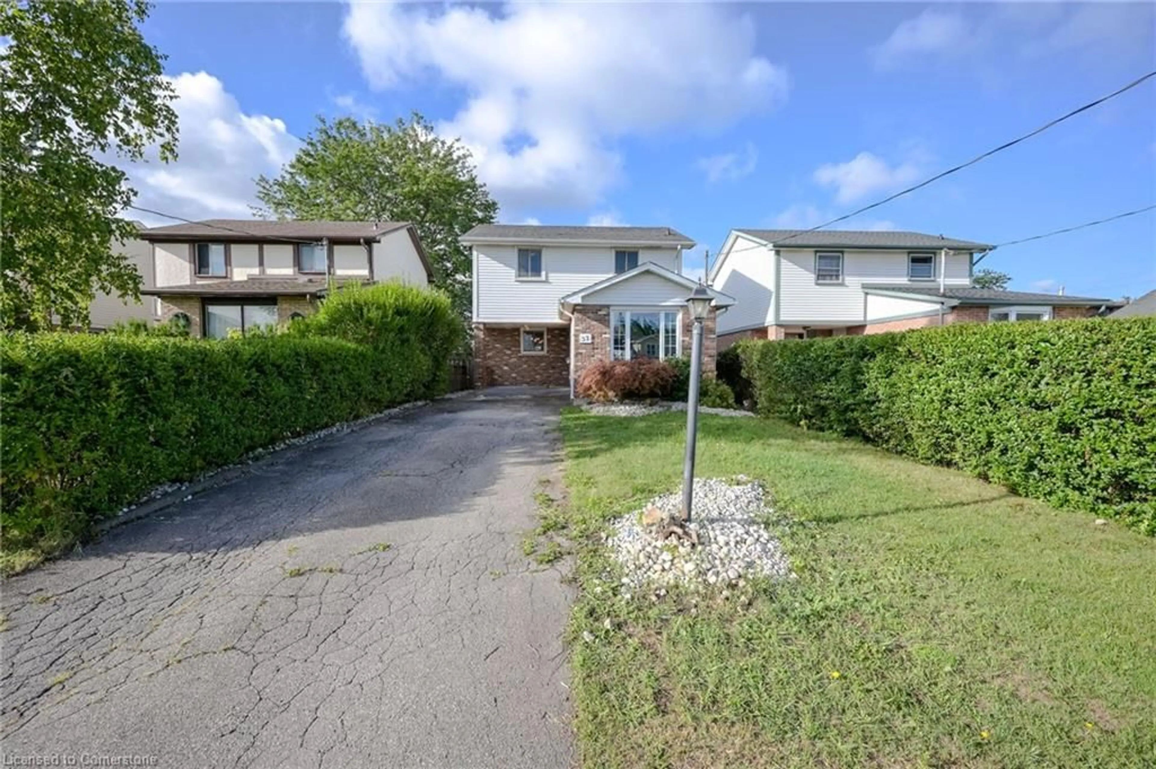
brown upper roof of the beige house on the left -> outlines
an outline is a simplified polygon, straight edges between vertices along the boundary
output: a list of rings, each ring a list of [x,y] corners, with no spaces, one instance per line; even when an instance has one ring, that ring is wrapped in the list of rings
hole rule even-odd
[[[408,222],[338,222],[338,221],[271,221],[264,219],[206,219],[199,222],[183,222],[150,227],[140,232],[141,239],[230,239],[253,241],[361,241],[375,239],[408,227]]]

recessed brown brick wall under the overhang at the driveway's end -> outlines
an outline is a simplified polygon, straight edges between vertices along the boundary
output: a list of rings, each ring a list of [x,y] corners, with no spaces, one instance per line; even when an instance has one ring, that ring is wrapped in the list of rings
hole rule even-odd
[[[474,325],[474,385],[570,385],[569,327],[546,330],[546,354],[521,352],[521,328]]]

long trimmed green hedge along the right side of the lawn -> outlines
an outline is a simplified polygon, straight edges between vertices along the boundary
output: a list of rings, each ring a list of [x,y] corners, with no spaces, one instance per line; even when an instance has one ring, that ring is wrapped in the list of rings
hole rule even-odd
[[[1156,319],[744,341],[757,411],[1156,534]]]

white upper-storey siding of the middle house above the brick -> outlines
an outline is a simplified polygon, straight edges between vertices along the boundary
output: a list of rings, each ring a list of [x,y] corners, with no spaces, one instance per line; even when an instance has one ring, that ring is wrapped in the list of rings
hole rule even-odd
[[[525,247],[525,246],[523,246]],[[477,323],[551,323],[564,320],[563,296],[614,275],[615,246],[542,246],[544,280],[516,279],[518,246],[476,245],[474,274]],[[639,249],[638,264],[653,261],[677,271],[677,249]],[[662,281],[670,290],[673,284]],[[686,297],[683,297],[686,298]],[[632,304],[639,303],[631,298]]]

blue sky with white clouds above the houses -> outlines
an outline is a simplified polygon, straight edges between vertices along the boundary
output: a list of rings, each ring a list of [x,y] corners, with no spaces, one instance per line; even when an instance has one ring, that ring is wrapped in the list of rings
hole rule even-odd
[[[161,2],[144,35],[169,57],[181,156],[133,169],[142,206],[246,216],[253,177],[316,116],[417,110],[474,151],[502,221],[669,224],[712,252],[1156,69],[1151,3]],[[1151,202],[1156,80],[842,225],[999,243]],[[1156,287],[1156,216],[985,266],[1022,290],[1136,296]]]

